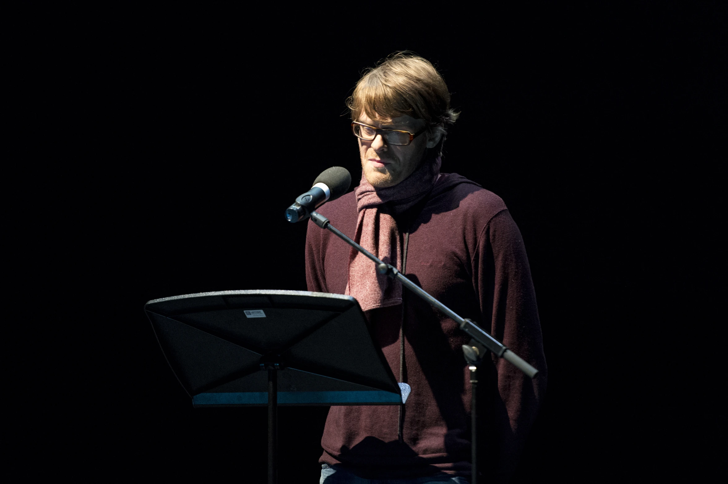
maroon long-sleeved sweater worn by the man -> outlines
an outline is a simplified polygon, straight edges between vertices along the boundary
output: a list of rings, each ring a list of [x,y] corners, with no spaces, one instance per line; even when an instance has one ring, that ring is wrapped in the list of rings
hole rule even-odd
[[[354,237],[353,192],[319,212]],[[521,233],[501,198],[458,174],[443,174],[426,201],[395,218],[400,230],[409,233],[405,275],[540,370],[531,381],[510,363],[491,357],[479,370],[480,469],[488,466],[488,477],[495,477],[488,482],[505,482],[546,385],[541,327]],[[348,261],[349,246],[309,222],[309,291],[344,294]],[[461,345],[470,337],[406,290],[403,305],[367,312],[374,342],[395,376],[401,375],[400,381],[412,389],[401,416],[397,406],[332,406],[320,462],[346,464],[369,478],[439,471],[468,476],[470,371]]]

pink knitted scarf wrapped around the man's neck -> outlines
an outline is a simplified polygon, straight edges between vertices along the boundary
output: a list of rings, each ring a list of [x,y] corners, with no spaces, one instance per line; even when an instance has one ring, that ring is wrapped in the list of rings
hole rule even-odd
[[[357,197],[357,231],[354,240],[383,262],[402,270],[403,236],[396,214],[421,201],[440,176],[440,157],[424,161],[403,182],[377,190],[366,181],[362,171]],[[344,294],[353,296],[363,311],[402,304],[402,283],[376,271],[376,265],[352,248],[349,255],[349,283]]]

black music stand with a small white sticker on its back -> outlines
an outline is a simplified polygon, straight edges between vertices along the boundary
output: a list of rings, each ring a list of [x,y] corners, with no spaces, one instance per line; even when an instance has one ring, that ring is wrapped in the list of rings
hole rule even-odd
[[[277,406],[403,403],[353,297],[219,291],[154,299],[144,310],[195,407],[268,406],[269,483]]]

